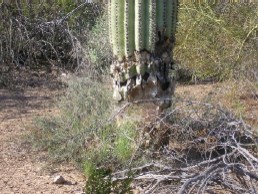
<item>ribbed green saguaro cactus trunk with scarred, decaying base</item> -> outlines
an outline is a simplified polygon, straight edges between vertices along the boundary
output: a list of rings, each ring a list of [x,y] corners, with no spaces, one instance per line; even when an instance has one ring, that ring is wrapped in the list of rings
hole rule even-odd
[[[177,12],[178,0],[109,0],[115,99],[171,97]]]

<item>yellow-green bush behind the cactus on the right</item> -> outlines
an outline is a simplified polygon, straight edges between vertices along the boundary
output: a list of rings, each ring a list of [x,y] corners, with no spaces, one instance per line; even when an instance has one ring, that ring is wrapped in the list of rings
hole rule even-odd
[[[199,79],[257,73],[257,3],[182,3],[175,58]]]

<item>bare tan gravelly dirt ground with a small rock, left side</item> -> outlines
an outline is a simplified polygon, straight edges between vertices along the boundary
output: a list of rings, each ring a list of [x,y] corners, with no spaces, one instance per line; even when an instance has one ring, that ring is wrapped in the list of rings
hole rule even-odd
[[[44,153],[28,151],[21,140],[35,117],[53,111],[55,94],[46,88],[0,90],[0,194],[82,193],[85,181],[81,173],[69,166],[49,168]],[[71,184],[53,184],[57,175]]]

